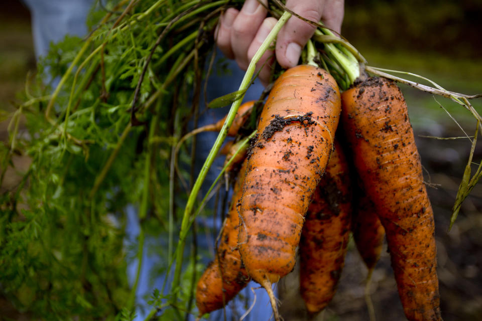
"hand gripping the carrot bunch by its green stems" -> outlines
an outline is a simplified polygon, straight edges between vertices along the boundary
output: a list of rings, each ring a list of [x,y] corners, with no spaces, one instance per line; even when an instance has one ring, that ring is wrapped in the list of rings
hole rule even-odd
[[[241,11],[229,8],[217,27],[217,46],[243,70],[248,69],[251,59],[277,22],[273,17],[266,18],[267,10],[260,2],[267,5],[268,0],[246,0]],[[341,30],[343,0],[287,0],[286,7],[308,20],[321,20],[336,33]],[[278,63],[283,68],[297,65],[301,49],[314,32],[314,26],[291,17],[280,30],[276,41],[275,55]],[[266,61],[259,75],[265,85],[270,77],[270,65],[274,61],[272,55],[273,51],[267,50],[257,64],[259,68]]]

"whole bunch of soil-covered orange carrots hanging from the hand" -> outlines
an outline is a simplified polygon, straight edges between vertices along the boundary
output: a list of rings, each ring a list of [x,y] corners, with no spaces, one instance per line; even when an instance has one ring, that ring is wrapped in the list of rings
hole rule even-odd
[[[407,319],[441,320],[434,216],[403,95],[362,68],[340,77],[334,64],[345,67],[346,50],[325,45],[320,59],[313,48],[274,82],[238,157],[216,257],[197,284],[199,318],[254,280],[280,320],[272,284],[293,270],[297,252],[300,294],[316,315],[335,293],[351,232],[369,275],[386,237]],[[229,134],[254,103],[240,107]]]

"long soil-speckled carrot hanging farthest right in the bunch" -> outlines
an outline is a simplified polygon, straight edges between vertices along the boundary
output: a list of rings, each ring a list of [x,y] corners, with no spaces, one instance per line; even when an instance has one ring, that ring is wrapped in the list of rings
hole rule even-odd
[[[397,85],[370,78],[342,94],[344,132],[375,204],[405,315],[441,320],[434,218],[407,105]]]

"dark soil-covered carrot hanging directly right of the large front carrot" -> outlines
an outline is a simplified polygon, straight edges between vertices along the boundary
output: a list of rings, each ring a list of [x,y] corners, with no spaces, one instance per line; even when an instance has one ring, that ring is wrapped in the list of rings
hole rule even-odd
[[[313,316],[331,301],[348,244],[351,186],[348,164],[335,149],[308,208],[300,240],[300,292]]]

